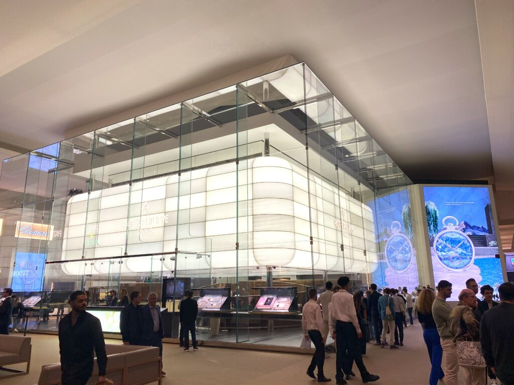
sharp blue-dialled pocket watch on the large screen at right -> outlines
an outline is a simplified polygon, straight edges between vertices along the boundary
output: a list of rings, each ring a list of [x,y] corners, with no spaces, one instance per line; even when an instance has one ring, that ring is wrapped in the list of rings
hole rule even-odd
[[[475,258],[473,242],[461,231],[457,218],[448,216],[442,222],[443,230],[434,238],[433,248],[437,260],[450,270],[469,267]]]

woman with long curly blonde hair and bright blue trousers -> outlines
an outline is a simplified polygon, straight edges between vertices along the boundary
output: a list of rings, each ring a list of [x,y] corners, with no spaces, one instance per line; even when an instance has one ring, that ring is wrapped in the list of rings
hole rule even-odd
[[[432,316],[432,303],[435,300],[435,293],[430,289],[423,289],[418,297],[418,320],[423,327],[423,339],[427,345],[428,355],[432,363],[430,370],[430,385],[437,385],[437,381],[442,379],[445,374],[441,369],[441,361],[443,359],[443,348],[437,326]]]

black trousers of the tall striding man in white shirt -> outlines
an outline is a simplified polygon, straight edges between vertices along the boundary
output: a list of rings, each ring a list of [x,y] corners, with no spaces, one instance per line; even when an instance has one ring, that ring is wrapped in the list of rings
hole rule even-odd
[[[357,331],[352,322],[336,321],[336,381],[344,380],[344,373],[351,372],[353,361],[357,364],[362,379],[370,375],[359,351]]]

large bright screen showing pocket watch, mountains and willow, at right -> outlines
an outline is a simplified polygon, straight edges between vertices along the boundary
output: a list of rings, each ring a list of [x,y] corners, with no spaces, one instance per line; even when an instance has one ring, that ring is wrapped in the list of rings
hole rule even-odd
[[[452,283],[451,301],[468,278],[497,294],[503,275],[489,188],[424,186],[423,194],[435,283]]]

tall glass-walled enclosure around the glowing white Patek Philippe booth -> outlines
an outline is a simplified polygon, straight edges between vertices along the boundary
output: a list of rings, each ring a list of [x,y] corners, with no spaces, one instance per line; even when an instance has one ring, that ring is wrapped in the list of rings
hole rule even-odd
[[[191,289],[199,339],[298,347],[309,287],[419,283],[410,184],[301,63],[4,161],[0,286],[40,330],[156,292],[174,338]]]

